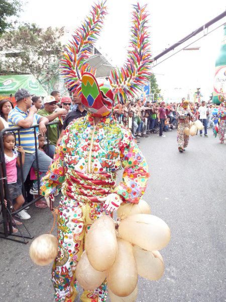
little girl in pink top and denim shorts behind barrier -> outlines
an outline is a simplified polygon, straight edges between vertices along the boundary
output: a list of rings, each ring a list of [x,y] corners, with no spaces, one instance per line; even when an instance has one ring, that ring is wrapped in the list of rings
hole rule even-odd
[[[9,198],[10,202],[13,205],[13,201],[16,200],[16,203],[13,205],[13,212],[18,210],[24,204],[24,197],[20,190],[19,185],[17,184],[17,167],[21,166],[20,157],[18,157],[18,152],[15,149],[16,144],[16,135],[14,132],[6,132],[3,135],[4,143],[4,154],[6,161],[6,173],[7,173],[7,182],[9,188]],[[22,156],[22,165],[24,165],[25,151],[22,146],[18,146],[18,151]],[[15,225],[21,225],[22,222],[13,219]],[[18,229],[13,228],[13,233],[17,233]]]

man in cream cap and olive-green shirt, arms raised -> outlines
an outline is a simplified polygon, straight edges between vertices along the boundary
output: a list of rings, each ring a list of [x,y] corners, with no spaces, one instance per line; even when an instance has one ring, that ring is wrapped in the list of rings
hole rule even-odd
[[[48,122],[59,121],[59,116],[66,115],[66,109],[59,108],[57,112],[54,112],[56,109],[56,100],[53,96],[47,96],[44,99],[44,109],[38,111],[41,116],[45,116],[48,119]],[[47,152],[47,147],[45,151],[49,154],[51,158],[53,158],[55,154],[56,142],[58,139],[57,133],[57,124],[49,125],[49,152]]]

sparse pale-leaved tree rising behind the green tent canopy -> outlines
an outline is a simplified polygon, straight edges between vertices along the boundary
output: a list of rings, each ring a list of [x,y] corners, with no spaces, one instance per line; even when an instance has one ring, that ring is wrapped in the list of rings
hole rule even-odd
[[[0,51],[5,53],[0,61],[2,74],[31,73],[48,86],[58,79],[63,34],[64,28],[44,30],[36,24],[24,24],[5,33],[0,44]]]

